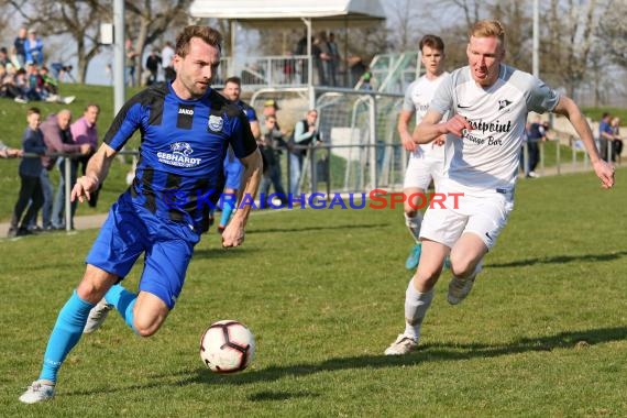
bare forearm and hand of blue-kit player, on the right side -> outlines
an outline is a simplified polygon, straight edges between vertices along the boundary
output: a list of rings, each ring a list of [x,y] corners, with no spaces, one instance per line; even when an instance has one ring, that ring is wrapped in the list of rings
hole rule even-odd
[[[246,199],[254,199],[261,182],[263,163],[258,148],[251,155],[240,158],[240,161],[244,165],[243,186],[238,197],[238,210],[222,233],[222,246],[238,246],[244,242],[244,227],[251,213],[252,205],[240,204],[244,196]]]

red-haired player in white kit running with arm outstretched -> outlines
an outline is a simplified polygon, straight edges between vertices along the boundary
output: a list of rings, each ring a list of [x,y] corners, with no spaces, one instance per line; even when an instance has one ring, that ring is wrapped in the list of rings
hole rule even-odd
[[[514,206],[514,186],[527,113],[551,111],[566,117],[585,144],[601,186],[614,185],[614,167],[601,160],[592,132],[575,102],[530,74],[502,64],[505,31],[497,21],[480,21],[470,31],[469,66],[447,76],[414,131],[414,141],[429,143],[442,134],[454,146],[440,193],[463,193],[458,205],[429,208],[420,239],[422,254],[405,297],[405,331],[386,355],[418,348],[420,326],[433,287],[450,253],[453,277],[448,300],[461,302],[470,293],[481,261],[495,244]],[[446,112],[452,114],[441,122]]]

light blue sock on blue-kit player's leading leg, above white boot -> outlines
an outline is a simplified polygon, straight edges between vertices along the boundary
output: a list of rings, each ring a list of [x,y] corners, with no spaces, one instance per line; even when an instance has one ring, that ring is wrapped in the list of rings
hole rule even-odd
[[[72,297],[58,312],[44,354],[40,380],[56,382],[56,374],[67,354],[80,340],[87,317],[94,306],[94,304],[78,297],[74,290]]]

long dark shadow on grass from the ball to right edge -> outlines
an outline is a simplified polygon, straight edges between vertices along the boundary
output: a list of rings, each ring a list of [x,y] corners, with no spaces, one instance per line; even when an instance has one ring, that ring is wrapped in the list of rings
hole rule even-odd
[[[302,363],[285,366],[270,366],[258,371],[221,376],[199,367],[196,375],[179,382],[186,384],[231,384],[244,385],[256,382],[272,382],[286,376],[302,376],[314,373],[332,372],[350,369],[383,369],[416,365],[425,362],[450,362],[471,359],[491,359],[536,351],[550,352],[556,349],[585,350],[590,345],[622,341],[627,339],[627,327],[600,328],[595,330],[564,331],[538,338],[521,338],[504,344],[425,344],[420,350],[408,355],[359,355],[329,359],[321,363]],[[189,372],[187,372],[189,373]],[[278,395],[276,395],[278,396]]]

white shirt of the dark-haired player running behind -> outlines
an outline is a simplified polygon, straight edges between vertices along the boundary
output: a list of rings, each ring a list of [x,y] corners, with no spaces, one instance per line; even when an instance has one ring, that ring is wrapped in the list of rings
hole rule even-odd
[[[405,99],[403,100],[403,110],[416,112],[416,124],[420,123],[422,118],[425,118],[438,86],[440,86],[440,82],[448,74],[442,73],[440,77],[435,79],[422,76],[407,87]],[[444,160],[444,146],[435,145],[433,143],[420,144],[414,153],[424,153],[424,155],[429,155],[433,158]]]

